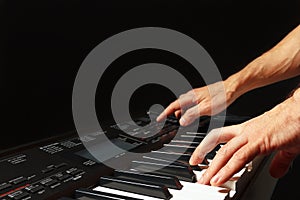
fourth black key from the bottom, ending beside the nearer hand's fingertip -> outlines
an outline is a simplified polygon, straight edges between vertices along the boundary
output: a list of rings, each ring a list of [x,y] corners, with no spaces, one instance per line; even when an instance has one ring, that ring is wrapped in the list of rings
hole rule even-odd
[[[163,176],[176,176],[179,180],[196,182],[196,175],[190,166],[132,161],[132,168],[141,172]]]

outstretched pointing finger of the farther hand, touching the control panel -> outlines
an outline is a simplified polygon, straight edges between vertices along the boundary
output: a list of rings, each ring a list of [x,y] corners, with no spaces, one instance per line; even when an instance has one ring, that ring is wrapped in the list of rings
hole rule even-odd
[[[176,111],[181,111],[184,108],[194,104],[194,93],[188,92],[187,94],[181,95],[176,101],[172,102],[157,118],[156,121],[160,122],[167,116],[171,115]]]

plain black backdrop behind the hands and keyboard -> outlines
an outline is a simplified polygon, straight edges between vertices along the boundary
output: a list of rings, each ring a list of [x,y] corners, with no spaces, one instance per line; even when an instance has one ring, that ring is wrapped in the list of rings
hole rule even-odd
[[[300,22],[296,0],[2,0],[0,6],[2,150],[74,130],[71,103],[76,73],[87,54],[116,33],[145,26],[180,31],[209,52],[225,79]],[[157,61],[181,67],[195,87],[203,85],[176,55],[152,50],[135,53],[118,59],[103,78],[98,92],[108,97],[96,97],[102,116],[109,112],[105,108],[110,106],[111,81],[137,64]],[[258,115],[282,101],[298,81],[250,92],[229,112]],[[141,88],[148,94],[137,99],[145,106],[132,104],[131,109],[145,110],[152,102],[167,105],[172,95],[160,89]]]

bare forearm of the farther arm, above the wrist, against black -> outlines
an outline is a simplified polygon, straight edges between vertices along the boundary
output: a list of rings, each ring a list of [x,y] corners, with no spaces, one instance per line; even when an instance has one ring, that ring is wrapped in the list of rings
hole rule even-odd
[[[242,94],[300,74],[300,25],[274,48],[224,81],[229,94]]]

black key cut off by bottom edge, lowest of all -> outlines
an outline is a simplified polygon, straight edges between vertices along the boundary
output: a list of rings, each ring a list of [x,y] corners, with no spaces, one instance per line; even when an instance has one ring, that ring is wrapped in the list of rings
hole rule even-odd
[[[118,194],[111,194],[111,193],[83,189],[83,188],[77,189],[75,191],[75,197],[78,199],[85,197],[85,198],[101,199],[101,200],[112,200],[112,199],[113,200],[141,200],[132,197],[125,197]]]

